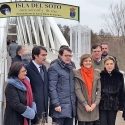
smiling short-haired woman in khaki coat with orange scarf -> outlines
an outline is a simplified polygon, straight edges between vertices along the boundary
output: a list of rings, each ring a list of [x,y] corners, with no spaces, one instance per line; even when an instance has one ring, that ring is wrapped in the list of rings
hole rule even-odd
[[[78,125],[93,125],[99,119],[100,75],[98,70],[92,68],[90,54],[81,56],[80,66],[74,71]]]

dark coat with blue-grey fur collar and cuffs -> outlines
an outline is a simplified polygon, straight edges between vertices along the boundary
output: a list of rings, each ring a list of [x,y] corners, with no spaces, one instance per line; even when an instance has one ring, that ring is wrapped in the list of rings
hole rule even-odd
[[[6,109],[4,114],[4,125],[24,125],[25,117],[35,116],[32,108],[27,110],[26,87],[18,78],[9,78],[5,89]],[[36,110],[36,109],[35,109]],[[30,120],[29,121],[30,125]]]

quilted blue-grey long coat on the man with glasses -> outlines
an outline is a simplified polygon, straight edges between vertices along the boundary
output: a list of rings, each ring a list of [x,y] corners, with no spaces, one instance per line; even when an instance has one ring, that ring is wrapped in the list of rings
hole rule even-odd
[[[52,117],[72,118],[76,115],[76,95],[74,74],[58,60],[48,69],[50,110]],[[55,111],[55,107],[61,106],[61,112]]]

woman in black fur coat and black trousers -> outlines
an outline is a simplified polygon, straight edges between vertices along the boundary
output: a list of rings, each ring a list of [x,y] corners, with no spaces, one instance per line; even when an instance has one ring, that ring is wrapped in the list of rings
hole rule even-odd
[[[117,111],[124,108],[123,74],[115,70],[115,59],[107,56],[101,72],[100,125],[115,125]]]

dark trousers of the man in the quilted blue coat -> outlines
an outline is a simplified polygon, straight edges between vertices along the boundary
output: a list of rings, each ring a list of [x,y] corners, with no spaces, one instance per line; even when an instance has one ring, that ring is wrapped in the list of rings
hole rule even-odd
[[[73,125],[73,118],[53,118],[56,125]]]

